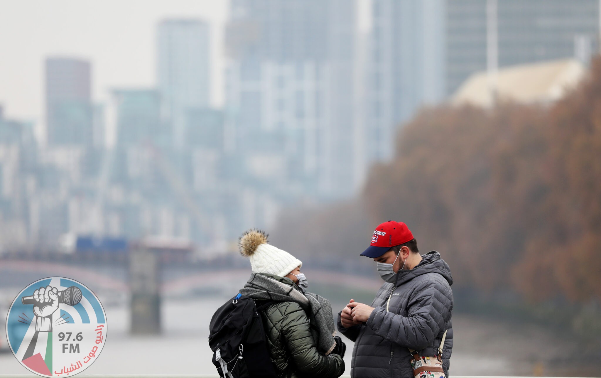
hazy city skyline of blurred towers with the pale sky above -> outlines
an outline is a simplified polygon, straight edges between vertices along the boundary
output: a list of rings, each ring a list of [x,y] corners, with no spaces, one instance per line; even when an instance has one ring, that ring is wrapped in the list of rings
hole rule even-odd
[[[0,19],[20,31],[0,34],[0,210],[13,248],[68,233],[231,249],[282,212],[355,197],[424,106],[459,89],[467,102],[490,96],[480,106],[557,100],[599,45],[597,0],[11,10]]]

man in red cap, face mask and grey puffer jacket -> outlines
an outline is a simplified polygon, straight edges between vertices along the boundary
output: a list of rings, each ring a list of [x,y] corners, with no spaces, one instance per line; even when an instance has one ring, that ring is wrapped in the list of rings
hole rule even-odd
[[[355,342],[351,377],[413,377],[424,371],[448,377],[453,349],[451,270],[441,255],[420,255],[403,222],[384,222],[361,254],[373,258],[380,287],[371,305],[350,300],[338,330]]]

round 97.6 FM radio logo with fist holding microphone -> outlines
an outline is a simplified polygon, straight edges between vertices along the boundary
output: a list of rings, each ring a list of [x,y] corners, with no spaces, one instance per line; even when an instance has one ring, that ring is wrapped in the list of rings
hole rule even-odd
[[[81,282],[44,278],[13,300],[6,334],[14,356],[32,373],[73,376],[102,351],[106,314],[98,297]]]

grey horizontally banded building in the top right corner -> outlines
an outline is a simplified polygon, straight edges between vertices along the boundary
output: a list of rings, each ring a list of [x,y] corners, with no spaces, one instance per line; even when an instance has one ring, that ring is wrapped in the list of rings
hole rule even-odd
[[[487,1],[449,0],[446,11],[446,93],[486,69]],[[498,66],[578,58],[599,46],[597,0],[497,0]]]

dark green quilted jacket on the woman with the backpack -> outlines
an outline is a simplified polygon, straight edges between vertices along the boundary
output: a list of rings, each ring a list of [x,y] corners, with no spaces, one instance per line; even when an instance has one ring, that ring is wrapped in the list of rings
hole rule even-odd
[[[294,285],[288,278],[272,278]],[[260,304],[260,300],[257,300],[257,305]],[[296,302],[276,302],[261,311],[261,317],[270,358],[279,377],[336,378],[344,373],[344,361],[339,355],[332,353],[325,356],[317,352],[309,317],[301,305]]]

